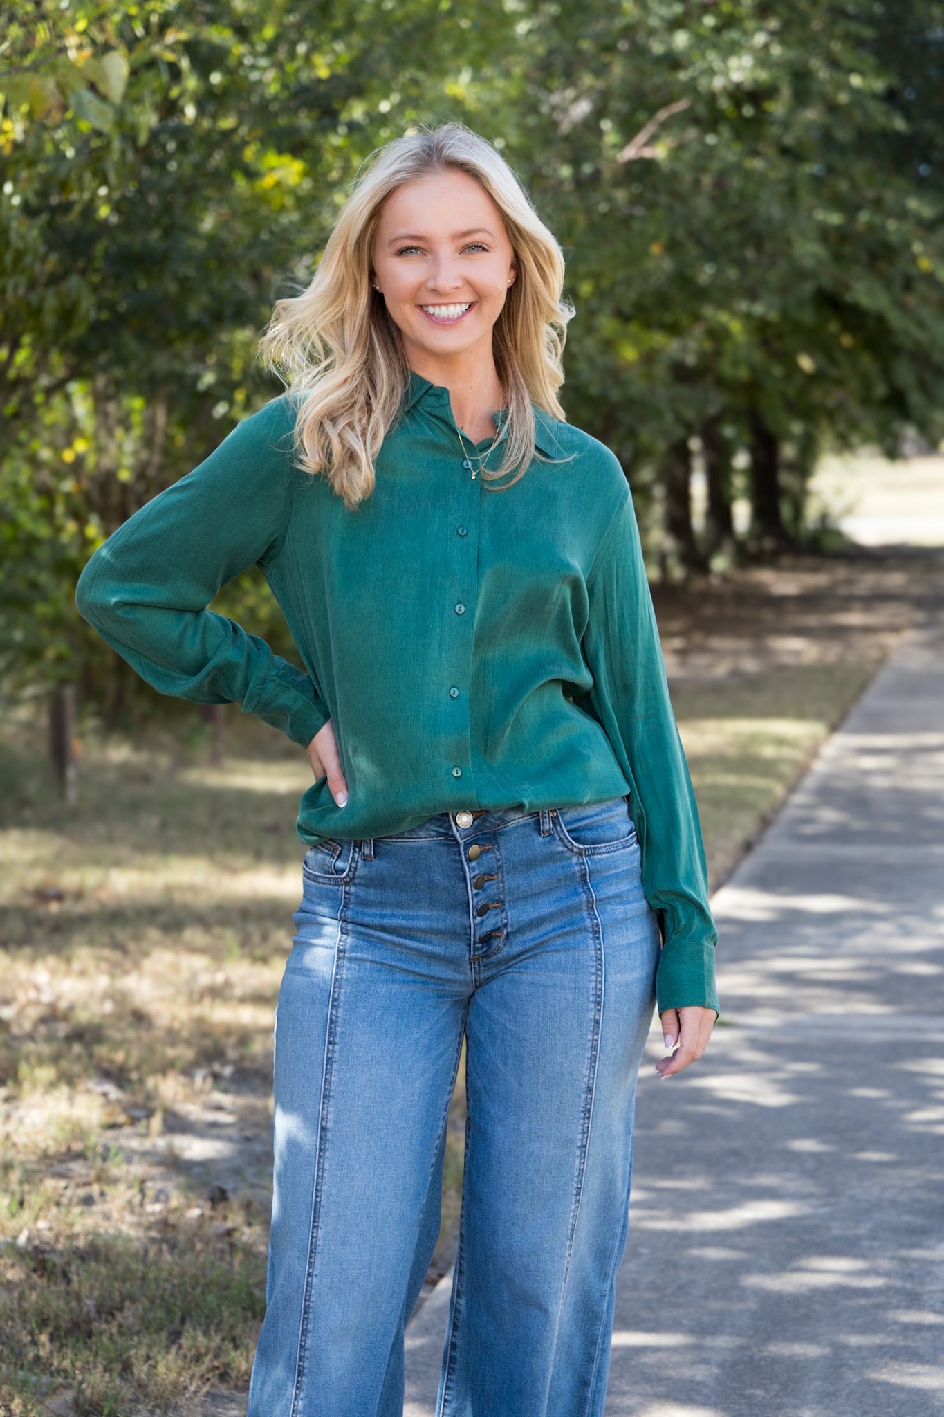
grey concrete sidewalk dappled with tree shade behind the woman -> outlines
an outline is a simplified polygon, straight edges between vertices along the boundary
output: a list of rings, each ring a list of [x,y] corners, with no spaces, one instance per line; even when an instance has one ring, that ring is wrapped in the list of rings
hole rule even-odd
[[[640,1074],[607,1417],[941,1413],[944,616],[713,905],[726,1026],[665,1083],[654,1034]],[[447,1304],[408,1329],[406,1417]]]

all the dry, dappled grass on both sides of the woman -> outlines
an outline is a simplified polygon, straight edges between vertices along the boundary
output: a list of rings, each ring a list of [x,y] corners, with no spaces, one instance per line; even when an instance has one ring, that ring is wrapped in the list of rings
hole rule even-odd
[[[658,594],[715,884],[941,581],[885,558]],[[3,1417],[236,1411],[248,1383],[309,768],[238,710],[215,762],[188,721],[84,734],[75,808],[35,714],[0,721]],[[460,1078],[430,1278],[463,1127]]]

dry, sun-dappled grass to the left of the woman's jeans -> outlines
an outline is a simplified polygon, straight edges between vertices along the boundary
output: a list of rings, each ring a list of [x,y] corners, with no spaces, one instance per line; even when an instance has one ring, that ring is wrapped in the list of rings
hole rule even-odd
[[[190,1410],[248,1383],[265,1308],[272,1006],[304,785],[279,744],[251,751],[229,772],[198,740],[88,740],[79,805],[62,809],[35,731],[6,726],[11,1417],[52,1410],[57,1390],[68,1411],[127,1414]]]

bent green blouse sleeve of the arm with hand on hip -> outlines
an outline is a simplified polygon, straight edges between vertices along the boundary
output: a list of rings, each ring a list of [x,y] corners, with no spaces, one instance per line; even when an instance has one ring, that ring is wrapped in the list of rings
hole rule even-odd
[[[277,401],[238,424],[192,472],[153,497],[95,551],[79,614],[149,684],[195,703],[239,703],[307,747],[330,713],[313,680],[207,606],[265,563],[292,509],[292,459]],[[286,435],[289,441],[289,435]]]

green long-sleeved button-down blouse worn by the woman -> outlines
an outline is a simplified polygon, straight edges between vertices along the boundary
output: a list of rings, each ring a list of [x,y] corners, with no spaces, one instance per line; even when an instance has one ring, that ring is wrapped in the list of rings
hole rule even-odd
[[[76,604],[161,693],[239,703],[303,747],[333,720],[348,802],[326,777],[309,788],[307,845],[628,794],[662,928],[658,1009],[718,1009],[698,808],[630,489],[603,444],[535,419],[538,449],[566,461],[498,490],[508,478],[467,466],[449,390],[410,374],[375,490],[347,510],[299,468],[283,394],[99,547]],[[253,564],[304,670],[207,609]]]

